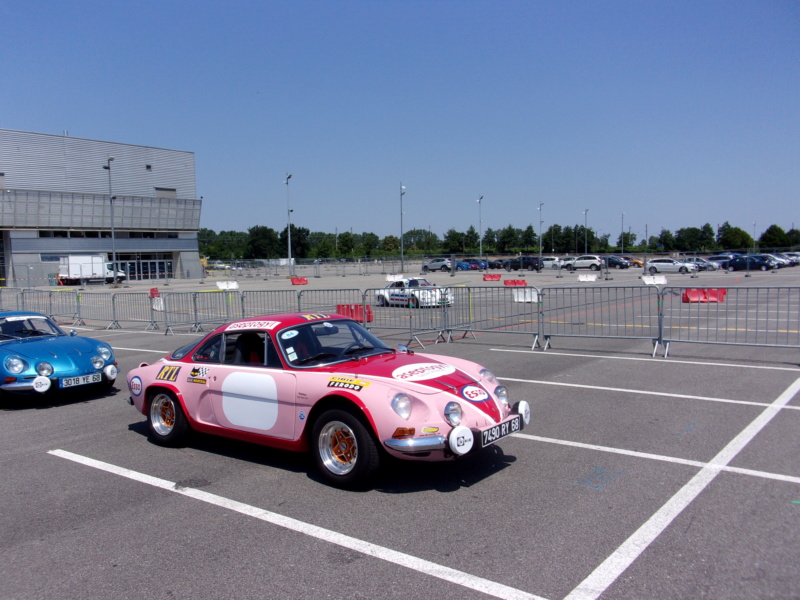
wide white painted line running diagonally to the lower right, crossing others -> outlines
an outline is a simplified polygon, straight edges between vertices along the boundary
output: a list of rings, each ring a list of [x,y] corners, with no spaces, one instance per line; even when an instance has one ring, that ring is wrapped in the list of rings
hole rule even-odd
[[[798,392],[800,379],[796,379],[564,600],[595,600],[603,594]]]

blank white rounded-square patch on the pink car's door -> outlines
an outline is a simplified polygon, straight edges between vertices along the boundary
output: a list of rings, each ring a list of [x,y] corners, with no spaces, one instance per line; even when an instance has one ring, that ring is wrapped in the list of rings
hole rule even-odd
[[[231,373],[222,382],[222,411],[232,425],[267,431],[278,421],[278,389],[264,373]]]

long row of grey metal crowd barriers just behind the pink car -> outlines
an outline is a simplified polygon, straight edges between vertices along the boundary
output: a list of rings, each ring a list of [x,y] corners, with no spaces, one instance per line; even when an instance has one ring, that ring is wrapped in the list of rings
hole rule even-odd
[[[649,339],[668,356],[674,342],[800,348],[800,288],[579,286],[452,287],[450,305],[381,306],[378,289],[84,292],[0,288],[2,310],[30,310],[59,322],[123,323],[147,330],[203,331],[239,318],[276,312],[346,314],[385,335],[450,342],[478,333],[530,335],[544,350],[556,337]],[[424,346],[423,346],[424,347]]]

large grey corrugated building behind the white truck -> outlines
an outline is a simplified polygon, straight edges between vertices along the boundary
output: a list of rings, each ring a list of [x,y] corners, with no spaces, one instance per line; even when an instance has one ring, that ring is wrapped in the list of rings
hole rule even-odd
[[[53,284],[68,254],[201,276],[193,152],[0,129],[0,194],[0,285]]]

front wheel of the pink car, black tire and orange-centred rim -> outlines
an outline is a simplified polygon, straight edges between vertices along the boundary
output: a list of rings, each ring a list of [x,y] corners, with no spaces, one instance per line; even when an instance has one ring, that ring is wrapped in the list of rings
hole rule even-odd
[[[380,465],[370,431],[346,409],[328,410],[314,422],[311,452],[320,475],[336,487],[359,487]]]

